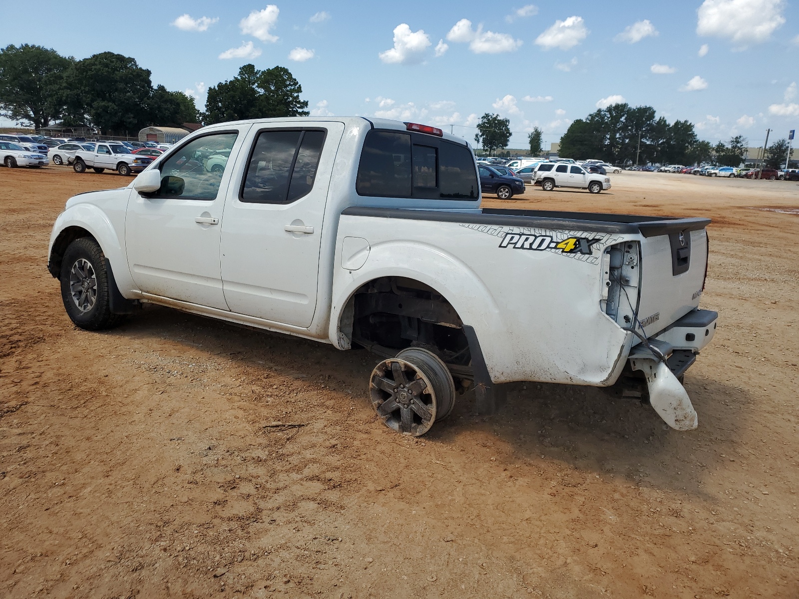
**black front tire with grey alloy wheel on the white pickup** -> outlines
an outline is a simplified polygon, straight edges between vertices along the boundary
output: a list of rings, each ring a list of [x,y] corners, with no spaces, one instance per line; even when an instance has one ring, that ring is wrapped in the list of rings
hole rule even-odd
[[[61,264],[61,299],[66,314],[77,327],[99,331],[117,326],[124,318],[111,313],[105,256],[90,237],[74,240]]]

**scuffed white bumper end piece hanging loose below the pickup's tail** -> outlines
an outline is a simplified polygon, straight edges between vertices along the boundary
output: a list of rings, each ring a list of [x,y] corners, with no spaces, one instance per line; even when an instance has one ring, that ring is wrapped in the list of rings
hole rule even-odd
[[[630,359],[630,366],[646,376],[650,404],[663,422],[676,430],[694,430],[697,427],[694,405],[685,387],[682,387],[666,363],[656,359],[633,358]]]

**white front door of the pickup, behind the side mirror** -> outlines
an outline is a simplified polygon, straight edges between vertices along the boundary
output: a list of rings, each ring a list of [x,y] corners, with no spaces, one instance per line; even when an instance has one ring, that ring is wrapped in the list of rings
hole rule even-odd
[[[161,162],[161,189],[131,193],[125,242],[130,274],[142,292],[228,309],[219,256],[222,210],[249,128],[195,137]],[[208,159],[220,151],[230,151],[231,160],[212,172]]]

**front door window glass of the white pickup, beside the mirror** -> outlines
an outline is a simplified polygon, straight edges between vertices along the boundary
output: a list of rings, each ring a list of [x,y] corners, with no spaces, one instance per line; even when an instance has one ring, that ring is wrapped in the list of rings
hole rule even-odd
[[[238,133],[205,135],[190,141],[161,163],[160,197],[213,200]]]

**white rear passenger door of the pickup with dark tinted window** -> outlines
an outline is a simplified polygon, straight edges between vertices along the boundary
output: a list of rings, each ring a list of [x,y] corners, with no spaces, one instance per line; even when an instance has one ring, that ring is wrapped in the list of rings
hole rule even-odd
[[[253,128],[248,136],[250,157],[229,188],[222,224],[222,280],[232,311],[310,326],[328,184],[343,133],[343,123],[304,122]],[[327,234],[335,236],[332,226]]]

